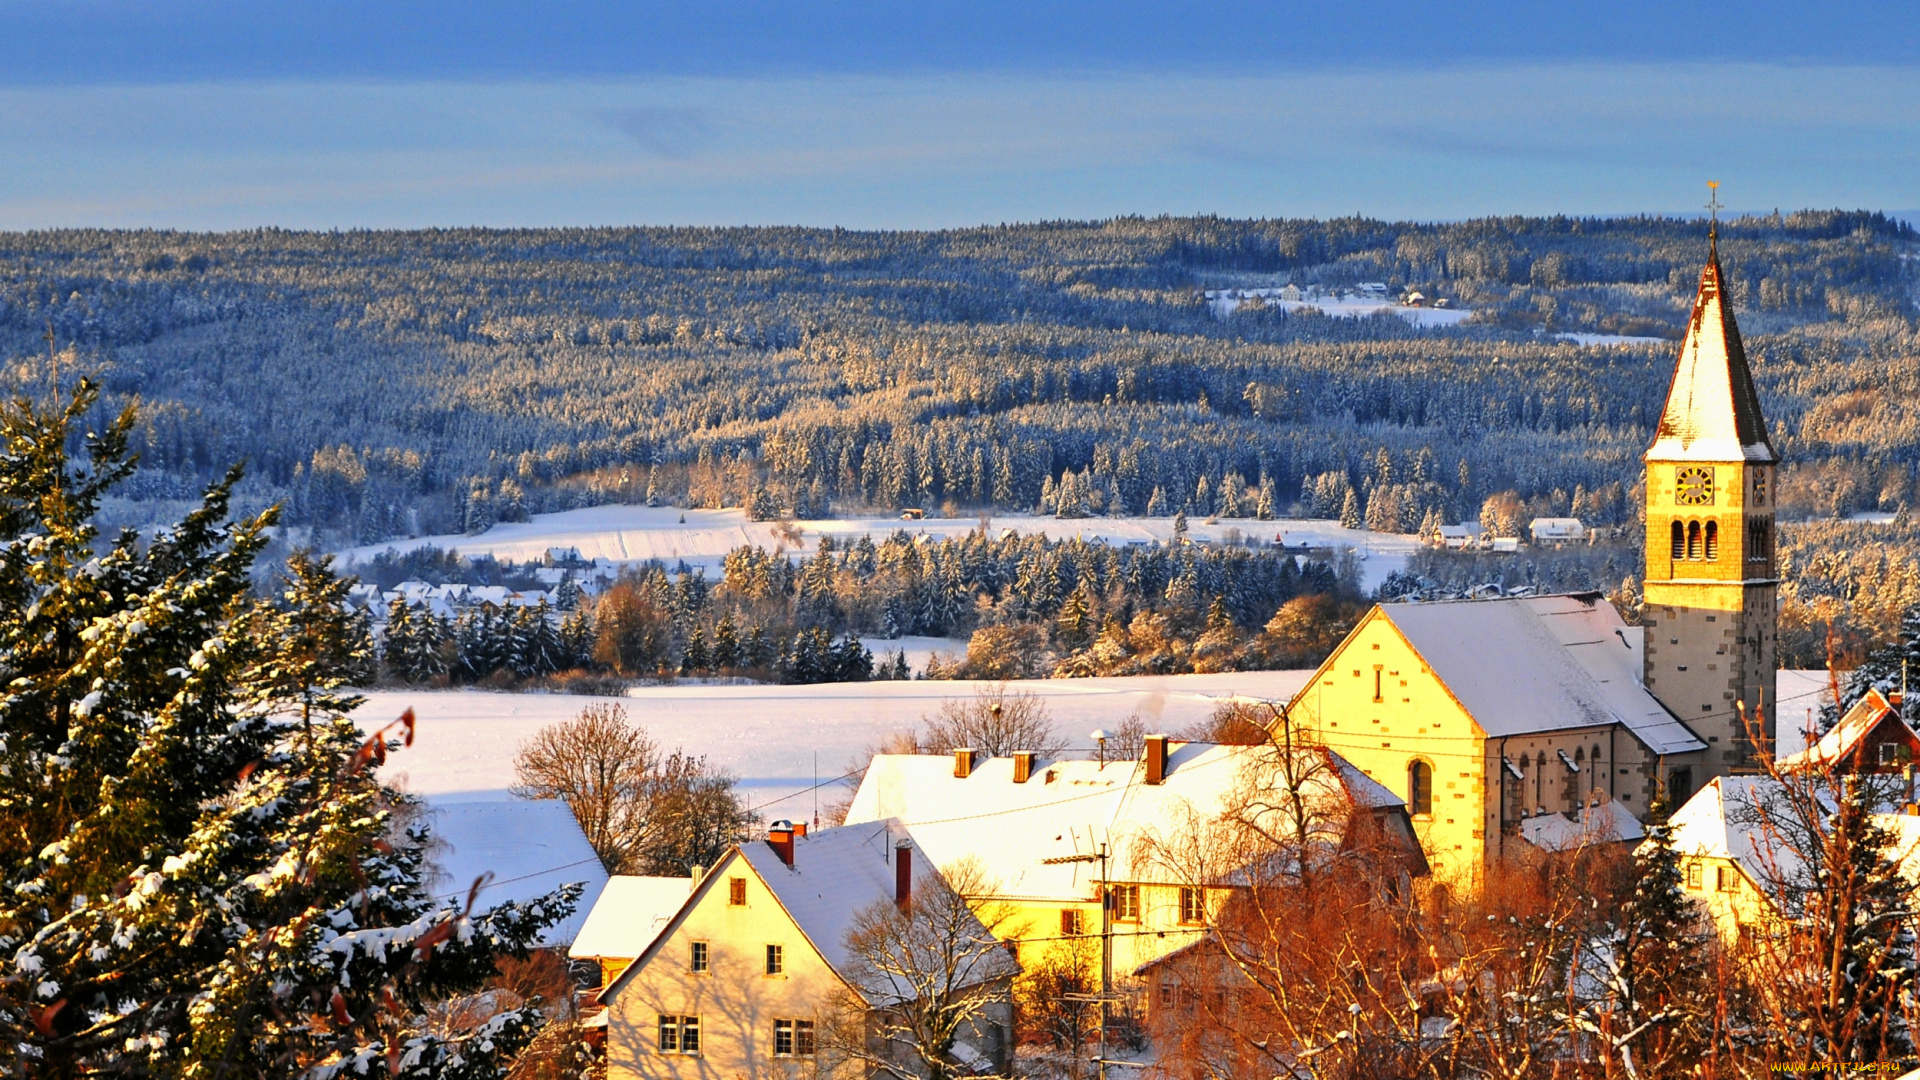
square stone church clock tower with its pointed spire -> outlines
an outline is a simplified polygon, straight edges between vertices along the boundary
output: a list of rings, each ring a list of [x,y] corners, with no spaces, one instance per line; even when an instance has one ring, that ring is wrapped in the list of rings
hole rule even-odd
[[[1647,448],[1645,684],[1707,742],[1668,773],[1672,796],[1755,767],[1740,715],[1774,738],[1774,473],[1761,398],[1722,288],[1718,225],[1667,409]],[[1690,755],[1692,757],[1692,755]]]

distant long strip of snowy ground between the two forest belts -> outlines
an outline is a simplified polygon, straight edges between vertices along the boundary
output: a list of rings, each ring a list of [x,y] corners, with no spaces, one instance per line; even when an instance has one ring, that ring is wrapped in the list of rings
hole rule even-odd
[[[728,552],[745,544],[766,550],[783,548],[787,552],[812,552],[822,536],[833,542],[856,540],[860,536],[885,538],[897,530],[910,536],[941,540],[947,536],[966,536],[979,528],[979,517],[929,517],[924,521],[902,521],[899,517],[837,517],[826,521],[795,521],[799,540],[781,536],[781,525],[774,521],[747,521],[741,509],[676,509],[647,505],[595,505],[588,509],[568,509],[563,513],[534,515],[532,521],[495,525],[478,536],[445,534],[420,536],[415,540],[390,540],[367,544],[342,552],[342,561],[365,561],[394,548],[407,552],[432,544],[436,548],[457,548],[467,555],[490,553],[497,559],[516,563],[540,561],[549,548],[574,548],[584,559],[607,559],[611,563],[639,563],[660,559],[666,565],[685,561],[689,567],[705,567],[707,577],[720,577],[720,563]],[[1031,517],[995,515],[989,528],[998,532],[1039,532],[1054,540],[1098,540],[1106,544],[1165,544],[1173,540],[1171,517]],[[1419,546],[1419,538],[1398,532],[1367,532],[1361,528],[1340,528],[1338,521],[1292,519],[1292,521],[1254,521],[1225,519],[1208,523],[1200,517],[1187,521],[1187,534],[1196,542],[1223,542],[1231,532],[1261,542],[1284,542],[1288,546],[1313,548],[1354,548],[1363,559],[1363,578],[1367,588],[1386,580],[1386,575],[1405,567],[1405,557]]]

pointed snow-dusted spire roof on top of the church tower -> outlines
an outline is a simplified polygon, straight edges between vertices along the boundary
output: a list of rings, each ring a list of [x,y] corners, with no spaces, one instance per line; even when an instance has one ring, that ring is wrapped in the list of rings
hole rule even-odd
[[[1778,461],[1722,279],[1715,248],[1699,271],[1693,317],[1647,461]]]

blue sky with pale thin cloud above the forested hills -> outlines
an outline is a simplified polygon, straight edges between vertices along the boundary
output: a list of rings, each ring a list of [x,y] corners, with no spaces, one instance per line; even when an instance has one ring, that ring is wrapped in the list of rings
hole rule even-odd
[[[0,229],[1920,208],[1908,4],[0,0]]]

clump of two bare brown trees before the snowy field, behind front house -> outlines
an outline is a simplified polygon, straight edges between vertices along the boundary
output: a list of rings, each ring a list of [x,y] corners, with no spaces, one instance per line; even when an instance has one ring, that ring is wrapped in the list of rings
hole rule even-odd
[[[758,821],[730,773],[680,749],[662,755],[616,701],[536,732],[515,773],[513,794],[566,799],[609,874],[710,865]]]

